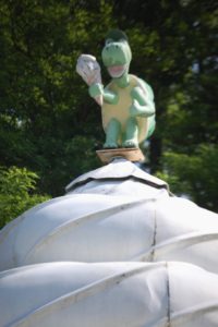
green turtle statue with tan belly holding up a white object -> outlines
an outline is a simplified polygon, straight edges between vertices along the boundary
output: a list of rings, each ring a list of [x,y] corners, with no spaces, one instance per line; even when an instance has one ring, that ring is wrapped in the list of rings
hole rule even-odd
[[[112,29],[101,52],[111,82],[104,88],[95,57],[82,55],[76,71],[89,85],[90,97],[101,107],[106,133],[105,149],[138,148],[155,130],[155,102],[152,87],[129,74],[132,52],[128,37]]]

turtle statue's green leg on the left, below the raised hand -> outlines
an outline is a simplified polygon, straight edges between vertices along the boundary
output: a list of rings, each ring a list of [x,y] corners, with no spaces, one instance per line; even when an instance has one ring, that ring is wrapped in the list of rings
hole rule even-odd
[[[121,123],[112,118],[106,130],[106,143],[104,144],[104,148],[117,148],[118,140],[121,133]]]

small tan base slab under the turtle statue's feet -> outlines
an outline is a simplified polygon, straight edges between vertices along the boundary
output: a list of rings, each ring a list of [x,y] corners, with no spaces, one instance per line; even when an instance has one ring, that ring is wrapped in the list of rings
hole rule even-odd
[[[135,162],[144,162],[145,156],[143,155],[142,150],[138,147],[120,147],[120,148],[108,148],[97,150],[96,154],[98,155],[99,159],[102,164],[109,164],[114,158],[125,158],[129,161]]]

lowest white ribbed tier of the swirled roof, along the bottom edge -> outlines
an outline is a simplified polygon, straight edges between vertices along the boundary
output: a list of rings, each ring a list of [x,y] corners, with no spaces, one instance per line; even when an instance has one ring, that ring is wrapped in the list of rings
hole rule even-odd
[[[218,276],[184,263],[26,266],[0,274],[0,316],[1,327],[211,327]]]

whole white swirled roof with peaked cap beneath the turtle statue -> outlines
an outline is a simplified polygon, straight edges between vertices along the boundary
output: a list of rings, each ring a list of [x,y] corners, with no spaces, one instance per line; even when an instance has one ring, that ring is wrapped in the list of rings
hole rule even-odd
[[[66,191],[0,231],[0,327],[218,326],[218,215],[122,159]]]

